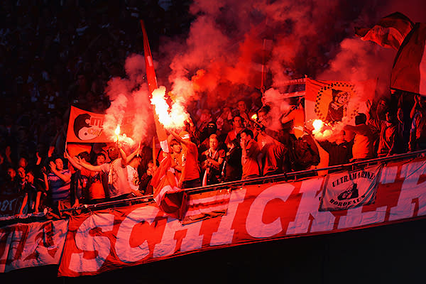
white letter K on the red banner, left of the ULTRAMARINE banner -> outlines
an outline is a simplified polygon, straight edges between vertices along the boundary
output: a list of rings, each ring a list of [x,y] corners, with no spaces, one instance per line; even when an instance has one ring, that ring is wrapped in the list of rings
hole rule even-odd
[[[321,189],[323,180],[324,178],[312,178],[311,180],[304,180],[302,182],[302,185],[300,185],[302,200],[300,200],[299,207],[297,208],[295,221],[288,224],[286,234],[304,234],[308,230],[312,233],[333,229],[334,215],[328,211],[318,211],[320,199],[317,196],[317,192]],[[311,228],[309,229],[310,226]]]

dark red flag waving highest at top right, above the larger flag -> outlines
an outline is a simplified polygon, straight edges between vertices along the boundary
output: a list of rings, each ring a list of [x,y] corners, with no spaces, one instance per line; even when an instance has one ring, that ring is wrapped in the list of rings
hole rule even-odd
[[[398,50],[413,26],[410,18],[396,12],[382,18],[373,28],[355,28],[355,34],[362,40],[371,40],[383,48]]]

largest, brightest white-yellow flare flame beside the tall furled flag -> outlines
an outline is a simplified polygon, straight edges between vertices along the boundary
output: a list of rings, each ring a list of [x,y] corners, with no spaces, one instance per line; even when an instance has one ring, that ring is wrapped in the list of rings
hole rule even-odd
[[[165,100],[165,87],[163,86],[154,90],[151,104],[154,105],[158,120],[165,128],[182,128],[185,120],[189,118],[179,97],[176,97],[176,101],[170,109]]]

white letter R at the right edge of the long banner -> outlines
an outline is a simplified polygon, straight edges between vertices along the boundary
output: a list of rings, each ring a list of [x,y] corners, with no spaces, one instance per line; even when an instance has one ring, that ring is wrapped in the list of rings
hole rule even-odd
[[[401,175],[403,176],[404,182],[401,187],[398,204],[396,207],[391,208],[391,214],[389,221],[405,219],[413,217],[415,203],[414,199],[418,199],[419,211],[418,216],[426,214],[426,182],[418,184],[420,175],[426,174],[426,163],[425,161],[408,163],[403,165],[401,169]]]

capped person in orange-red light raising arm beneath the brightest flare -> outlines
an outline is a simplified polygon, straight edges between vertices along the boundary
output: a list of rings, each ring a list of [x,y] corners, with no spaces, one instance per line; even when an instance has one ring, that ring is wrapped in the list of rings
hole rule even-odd
[[[190,139],[190,133],[182,131],[180,135],[174,131],[170,134],[182,145],[182,174],[180,175],[178,187],[192,188],[200,187],[200,166],[198,165],[198,148]]]

